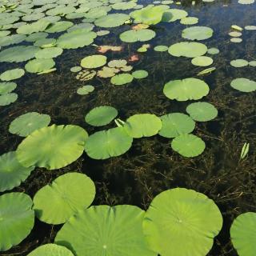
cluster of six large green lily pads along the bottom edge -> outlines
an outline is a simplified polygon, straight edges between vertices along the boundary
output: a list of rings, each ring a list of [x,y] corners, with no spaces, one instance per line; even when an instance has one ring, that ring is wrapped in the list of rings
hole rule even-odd
[[[64,224],[54,244],[29,256],[206,255],[222,229],[222,214],[213,200],[194,190],[176,188],[158,194],[146,212],[137,206],[91,206],[94,182],[71,172],[42,187],[33,200],[25,193],[0,196],[0,251],[26,238],[34,217]],[[241,214],[230,234],[239,255],[255,250],[256,213]]]

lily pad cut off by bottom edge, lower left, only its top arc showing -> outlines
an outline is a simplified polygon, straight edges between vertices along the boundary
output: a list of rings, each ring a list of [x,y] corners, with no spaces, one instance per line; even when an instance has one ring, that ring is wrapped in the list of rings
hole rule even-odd
[[[64,246],[49,243],[39,246],[35,250],[31,251],[27,256],[74,256],[74,254]]]

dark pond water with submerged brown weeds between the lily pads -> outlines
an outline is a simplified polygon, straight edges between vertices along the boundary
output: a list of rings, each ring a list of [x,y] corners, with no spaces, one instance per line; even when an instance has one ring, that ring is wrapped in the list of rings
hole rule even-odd
[[[174,5],[171,7],[175,8]],[[198,26],[214,29],[214,37],[203,42],[209,48],[217,47],[221,51],[213,57],[217,70],[202,78],[210,86],[210,94],[203,100],[214,104],[219,112],[214,121],[196,124],[194,134],[206,142],[205,152],[198,158],[183,158],[171,150],[169,139],[159,136],[135,139],[131,150],[118,158],[95,161],[83,154],[78,161],[61,170],[34,170],[30,178],[14,190],[33,197],[42,186],[70,170],[87,174],[94,180],[97,187],[94,205],[133,204],[146,210],[154,196],[163,190],[178,186],[197,190],[214,199],[224,218],[222,231],[209,255],[233,256],[237,254],[230,243],[230,223],[238,214],[256,211],[256,113],[255,93],[233,90],[230,82],[239,77],[255,80],[256,75],[255,67],[236,69],[229,63],[236,58],[256,59],[256,32],[243,30],[243,42],[239,44],[230,42],[228,33],[234,24],[242,27],[256,25],[256,4],[198,1],[192,6],[186,1],[182,2],[182,9],[189,16],[199,18]],[[82,126],[89,134],[100,130],[84,122],[85,114],[95,106],[114,106],[123,120],[140,113],[158,116],[177,111],[185,113],[190,102],[170,101],[162,93],[163,86],[170,80],[194,77],[203,68],[193,66],[188,58],[174,58],[153,50],[156,45],[170,46],[183,41],[181,31],[184,27],[179,22],[160,23],[153,27],[157,37],[149,42],[151,49],[146,54],[139,54],[140,61],[132,64],[134,70],[147,70],[150,75],[130,85],[113,86],[106,78],[94,78],[89,82],[75,79],[70,67],[79,65],[85,56],[96,53],[94,46],[65,50],[61,57],[56,58],[58,70],[52,74],[26,74],[19,80],[15,91],[18,101],[10,106],[0,106],[0,154],[16,150],[22,138],[9,134],[8,126],[14,118],[30,111],[50,114],[52,123],[58,125]],[[110,35],[95,40],[97,45],[124,46],[120,53],[107,53],[108,60],[128,59],[142,46],[142,43],[127,45],[118,39],[118,34],[128,29],[129,26],[112,29]],[[0,72],[24,64],[1,63]],[[76,94],[83,84],[94,85],[94,92],[86,96]],[[111,127],[114,127],[114,122],[106,129]],[[240,152],[245,142],[250,142],[250,153],[241,161]],[[53,242],[59,228],[36,221],[34,230],[25,241],[1,255],[26,255],[36,246]]]

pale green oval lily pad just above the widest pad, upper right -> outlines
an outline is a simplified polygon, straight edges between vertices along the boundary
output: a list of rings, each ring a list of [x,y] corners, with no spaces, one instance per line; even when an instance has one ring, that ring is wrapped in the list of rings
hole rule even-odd
[[[211,38],[214,34],[208,26],[190,26],[185,30],[182,30],[182,38],[190,40],[205,40]]]

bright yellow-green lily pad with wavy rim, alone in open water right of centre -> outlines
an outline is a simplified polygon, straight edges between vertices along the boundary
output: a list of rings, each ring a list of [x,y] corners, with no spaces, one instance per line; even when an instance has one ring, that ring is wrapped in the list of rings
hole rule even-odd
[[[209,93],[209,86],[198,78],[186,78],[167,82],[163,93],[167,98],[176,99],[178,102],[197,100]]]

